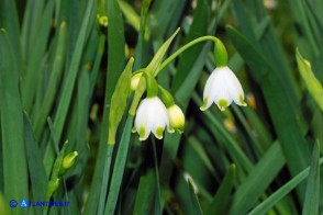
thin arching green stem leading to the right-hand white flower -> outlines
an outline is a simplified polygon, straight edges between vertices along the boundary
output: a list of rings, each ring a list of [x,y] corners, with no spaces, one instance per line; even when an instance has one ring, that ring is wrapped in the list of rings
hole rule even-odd
[[[189,42],[188,44],[186,44],[185,46],[182,46],[181,48],[179,48],[178,50],[176,50],[172,55],[170,55],[167,59],[165,59],[163,61],[163,64],[160,65],[156,76],[169,64],[171,63],[176,57],[178,57],[181,53],[183,53],[186,49],[192,47],[193,45],[198,44],[198,43],[201,43],[201,42],[204,42],[204,41],[213,41],[215,46],[216,45],[222,45],[223,46],[223,43],[215,36],[201,36],[199,38],[196,38],[191,42]],[[225,52],[226,54],[226,52]],[[223,53],[224,55],[224,53]],[[222,60],[221,60],[222,61]],[[221,64],[222,65],[222,64]]]

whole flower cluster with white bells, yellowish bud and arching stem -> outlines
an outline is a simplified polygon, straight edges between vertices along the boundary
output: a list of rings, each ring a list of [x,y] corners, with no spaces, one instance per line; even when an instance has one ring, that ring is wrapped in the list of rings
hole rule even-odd
[[[124,80],[129,80],[129,88],[135,91],[136,99],[133,101],[134,105],[132,104],[130,114],[132,116],[135,115],[133,132],[138,133],[141,140],[146,140],[151,133],[153,133],[156,138],[162,139],[165,129],[169,133],[174,133],[175,131],[182,133],[185,127],[185,115],[180,108],[175,104],[171,94],[157,83],[155,77],[180,53],[196,43],[207,39],[213,41],[214,60],[216,64],[216,68],[210,75],[204,87],[203,104],[200,108],[201,111],[209,109],[213,102],[221,111],[224,111],[232,102],[241,106],[246,105],[243,88],[234,72],[227,67],[226,48],[223,43],[214,36],[202,36],[191,41],[162,64],[163,57],[177,33],[178,30],[160,46],[146,68],[135,71],[131,78],[127,78],[126,73],[123,77]],[[127,67],[125,71],[131,71],[131,67]],[[127,93],[124,92],[126,88],[122,88],[121,82],[122,81],[120,81],[118,88],[120,91],[119,93],[123,93],[124,97],[126,97],[125,94]],[[147,92],[147,97],[140,103],[141,97],[145,91]],[[115,98],[118,98],[118,95],[115,95]],[[120,102],[120,106],[124,109],[125,101]],[[114,111],[118,112],[116,109],[114,109]],[[113,116],[113,114],[111,114],[111,116]],[[121,117],[118,117],[118,120],[120,121]],[[116,122],[116,120],[114,121]],[[115,134],[115,129],[111,128],[111,134]],[[114,143],[114,138],[112,138],[111,143]]]

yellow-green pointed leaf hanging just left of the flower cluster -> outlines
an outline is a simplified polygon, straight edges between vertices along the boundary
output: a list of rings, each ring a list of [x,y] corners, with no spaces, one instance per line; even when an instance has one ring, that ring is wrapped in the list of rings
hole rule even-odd
[[[130,93],[133,63],[134,63],[134,58],[130,58],[127,65],[125,66],[123,72],[121,73],[116,82],[114,92],[112,94],[111,108],[110,108],[110,114],[109,114],[109,135],[108,135],[109,145],[115,144],[115,134],[118,131],[118,126],[122,120],[122,116],[126,108],[126,99]]]

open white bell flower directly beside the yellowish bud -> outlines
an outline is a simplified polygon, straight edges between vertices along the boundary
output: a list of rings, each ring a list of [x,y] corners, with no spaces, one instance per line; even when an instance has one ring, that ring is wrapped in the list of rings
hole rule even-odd
[[[146,98],[141,102],[134,124],[134,132],[138,133],[140,140],[147,139],[151,132],[162,139],[166,126],[171,132],[166,106],[157,97]]]

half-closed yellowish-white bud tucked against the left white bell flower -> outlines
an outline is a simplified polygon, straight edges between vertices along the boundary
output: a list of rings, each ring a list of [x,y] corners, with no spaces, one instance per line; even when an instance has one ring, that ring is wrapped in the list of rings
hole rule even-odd
[[[185,126],[185,116],[180,108],[176,104],[167,108],[167,114],[169,117],[170,127],[175,128],[179,133],[182,133]]]

